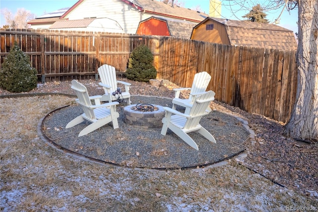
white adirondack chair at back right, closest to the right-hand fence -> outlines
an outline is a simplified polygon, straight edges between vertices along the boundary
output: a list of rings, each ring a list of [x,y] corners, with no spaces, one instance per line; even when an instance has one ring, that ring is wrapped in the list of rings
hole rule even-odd
[[[194,102],[194,97],[196,95],[200,95],[203,92],[205,92],[205,90],[207,89],[209,85],[210,80],[211,80],[210,74],[206,71],[203,71],[203,72],[196,73],[194,75],[192,87],[174,88],[173,90],[174,90],[175,97],[172,99],[172,109],[175,109],[176,105],[180,105],[182,107],[185,107],[185,113],[189,114],[191,106],[193,105],[193,102]],[[190,90],[190,95],[188,99],[179,98],[181,90]]]

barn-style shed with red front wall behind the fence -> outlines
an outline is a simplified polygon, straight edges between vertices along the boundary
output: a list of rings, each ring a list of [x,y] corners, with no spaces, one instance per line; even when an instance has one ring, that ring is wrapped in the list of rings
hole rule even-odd
[[[137,35],[173,36],[190,39],[196,23],[152,16],[139,22]]]

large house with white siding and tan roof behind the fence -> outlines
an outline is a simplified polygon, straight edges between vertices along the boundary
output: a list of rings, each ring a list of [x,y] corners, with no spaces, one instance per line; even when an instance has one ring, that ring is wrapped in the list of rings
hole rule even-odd
[[[196,24],[208,17],[203,12],[158,0],[79,0],[59,17],[40,16],[28,24],[33,29],[135,34],[139,22],[153,15]]]

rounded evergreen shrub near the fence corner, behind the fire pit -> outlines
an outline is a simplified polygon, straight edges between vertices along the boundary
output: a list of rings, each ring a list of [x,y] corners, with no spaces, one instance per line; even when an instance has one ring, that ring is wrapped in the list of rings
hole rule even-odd
[[[153,65],[154,56],[146,45],[136,47],[130,54],[127,79],[134,81],[149,82],[149,79],[156,79],[157,70]]]

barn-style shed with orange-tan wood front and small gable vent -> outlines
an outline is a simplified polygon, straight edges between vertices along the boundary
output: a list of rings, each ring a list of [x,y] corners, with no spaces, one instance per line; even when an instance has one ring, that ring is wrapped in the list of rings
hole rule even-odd
[[[207,17],[193,28],[191,39],[234,46],[279,50],[297,49],[296,38],[292,30],[275,24],[246,20]]]

